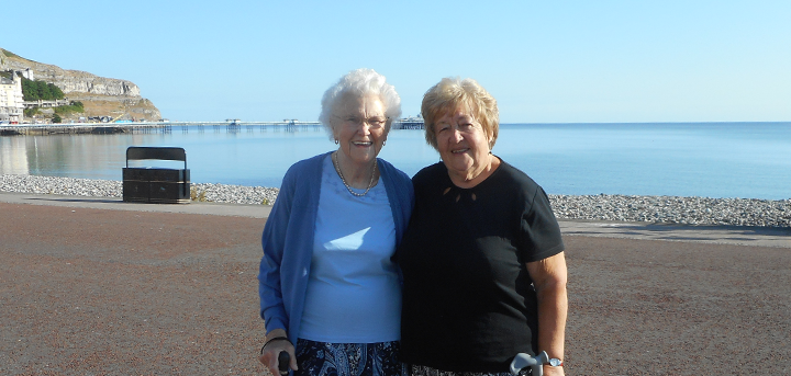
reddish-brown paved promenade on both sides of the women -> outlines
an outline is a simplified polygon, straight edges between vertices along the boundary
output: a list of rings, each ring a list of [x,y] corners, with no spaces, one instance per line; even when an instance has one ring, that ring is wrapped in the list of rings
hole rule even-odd
[[[0,193],[0,375],[254,375],[269,207]],[[561,221],[567,375],[791,374],[791,230]]]

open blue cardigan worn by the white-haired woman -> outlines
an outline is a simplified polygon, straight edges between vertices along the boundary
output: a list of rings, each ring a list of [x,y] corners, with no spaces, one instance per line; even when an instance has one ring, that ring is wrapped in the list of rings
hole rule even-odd
[[[292,343],[297,343],[304,309],[323,160],[328,153],[299,161],[289,168],[261,237],[264,257],[258,270],[260,316],[267,333],[274,329],[287,329]],[[377,162],[392,209],[398,247],[414,206],[414,190],[405,173],[382,159],[377,159]]]

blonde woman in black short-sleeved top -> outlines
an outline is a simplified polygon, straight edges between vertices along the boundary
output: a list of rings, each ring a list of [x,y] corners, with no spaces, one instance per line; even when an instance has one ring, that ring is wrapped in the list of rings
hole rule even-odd
[[[471,79],[446,78],[422,114],[442,162],[412,178],[399,248],[402,361],[417,376],[508,375],[517,353],[546,351],[544,373],[562,375],[560,229],[544,190],[491,152],[497,101]]]

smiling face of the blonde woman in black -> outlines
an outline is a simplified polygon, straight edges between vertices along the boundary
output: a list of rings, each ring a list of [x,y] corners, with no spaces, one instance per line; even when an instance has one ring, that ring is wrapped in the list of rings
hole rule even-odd
[[[454,182],[477,178],[491,163],[489,139],[467,106],[442,114],[434,122],[437,151]]]

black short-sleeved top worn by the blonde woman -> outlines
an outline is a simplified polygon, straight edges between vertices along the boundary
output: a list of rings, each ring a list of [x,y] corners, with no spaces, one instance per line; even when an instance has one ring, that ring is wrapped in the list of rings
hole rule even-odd
[[[412,178],[401,242],[402,361],[453,372],[508,372],[535,354],[537,307],[526,263],[564,250],[538,184],[504,161],[472,189],[442,162]]]

